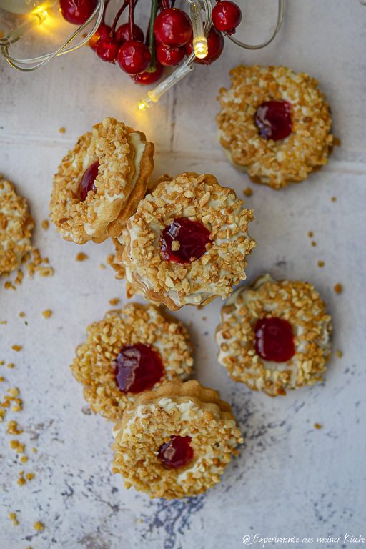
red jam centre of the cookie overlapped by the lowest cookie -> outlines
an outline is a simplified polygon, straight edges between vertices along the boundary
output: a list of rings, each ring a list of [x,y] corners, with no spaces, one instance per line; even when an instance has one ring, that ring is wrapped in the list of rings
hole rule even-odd
[[[162,379],[164,366],[157,352],[149,345],[137,343],[119,350],[114,375],[122,392],[143,392]]]

